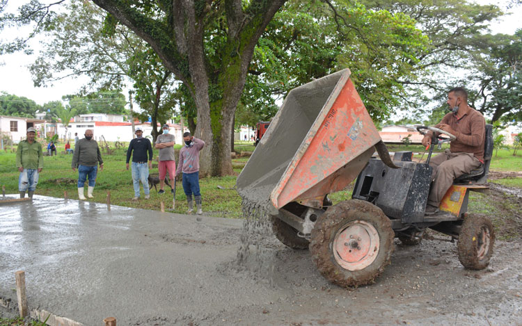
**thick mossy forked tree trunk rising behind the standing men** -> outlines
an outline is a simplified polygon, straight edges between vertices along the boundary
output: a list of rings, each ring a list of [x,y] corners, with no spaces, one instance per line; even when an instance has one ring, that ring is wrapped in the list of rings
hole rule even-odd
[[[232,120],[244,88],[248,63],[255,44],[285,0],[250,3],[224,0],[222,7],[210,6],[212,1],[206,2],[205,6],[205,1],[173,0],[171,6],[156,7],[168,15],[167,24],[166,21],[143,15],[139,11],[143,4],[140,1],[135,2],[136,7],[129,6],[134,1],[93,2],[148,42],[166,68],[189,88],[198,110],[194,136],[204,140],[206,144],[200,152],[200,174],[232,174]],[[225,9],[227,40],[223,49],[219,49],[221,67],[207,71],[207,67],[211,65],[206,60],[204,28],[207,19],[222,15],[213,11],[216,8]],[[212,90],[209,85],[212,85]]]

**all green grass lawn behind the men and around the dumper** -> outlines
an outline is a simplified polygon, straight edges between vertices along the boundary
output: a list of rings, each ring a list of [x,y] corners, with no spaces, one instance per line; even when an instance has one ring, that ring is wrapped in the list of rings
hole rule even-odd
[[[177,148],[180,147],[180,145],[177,145]],[[251,142],[238,143],[235,145],[236,152],[251,152],[254,148]],[[422,152],[424,149],[422,146],[414,145],[410,145],[409,147],[390,146],[390,152],[400,150]],[[61,149],[58,149],[58,153],[60,152]],[[151,198],[149,200],[141,199],[139,202],[132,202],[131,199],[134,197],[134,190],[132,188],[131,171],[125,169],[125,153],[126,147],[117,149],[113,155],[102,154],[104,158],[104,170],[98,172],[94,191],[95,198],[93,199],[95,202],[105,203],[107,191],[110,191],[111,204],[113,205],[159,211],[161,206],[160,202],[163,201],[166,211],[184,213],[184,211],[187,210],[186,197],[183,193],[181,182],[177,182],[176,206],[174,210],[172,210],[172,197],[171,193],[168,193],[168,186],[166,186],[167,192],[162,195],[158,195],[154,188],[152,188]],[[157,157],[156,149],[155,157]],[[72,172],[70,168],[71,159],[72,155],[65,154],[45,156],[45,167],[40,174],[40,182],[38,183],[35,193],[38,195],[63,197],[64,192],[67,191],[69,198],[77,199],[78,172]],[[203,195],[203,211],[205,214],[226,218],[242,218],[241,198],[234,187],[237,174],[241,172],[247,161],[248,157],[240,157],[232,160],[235,175],[200,179],[200,188]],[[497,156],[493,153],[490,170],[501,172],[520,171],[522,170],[521,168],[522,155],[513,156],[512,150],[507,149],[499,149]],[[153,167],[151,174],[157,173],[157,167]],[[18,175],[19,172],[15,168],[15,153],[0,152],[0,186],[6,186],[6,193],[18,192]],[[494,182],[505,186],[522,188],[522,178],[496,179]],[[331,194],[330,198],[332,202],[335,204],[351,198],[353,185],[354,182],[345,190]],[[143,198],[143,189],[141,192]],[[499,203],[499,200],[500,202],[504,200],[505,203]],[[471,213],[487,213],[490,216],[503,216],[506,210],[512,211],[513,214],[520,215],[520,209],[506,206],[509,206],[509,202],[509,198],[499,199],[473,193],[473,195],[470,196],[469,210]],[[495,220],[496,224],[499,224],[503,223],[505,219],[493,218],[493,220]]]

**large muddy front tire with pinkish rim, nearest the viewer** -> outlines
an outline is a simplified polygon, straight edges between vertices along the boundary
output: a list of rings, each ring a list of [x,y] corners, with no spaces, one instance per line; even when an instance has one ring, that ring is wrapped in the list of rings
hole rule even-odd
[[[338,286],[374,283],[390,263],[395,233],[379,207],[347,200],[319,217],[310,238],[317,269]]]

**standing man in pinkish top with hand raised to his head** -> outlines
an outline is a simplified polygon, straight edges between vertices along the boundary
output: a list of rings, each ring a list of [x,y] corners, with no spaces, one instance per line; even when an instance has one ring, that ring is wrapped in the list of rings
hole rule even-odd
[[[183,191],[187,196],[187,204],[189,210],[187,213],[192,213],[194,210],[192,202],[192,194],[196,200],[197,213],[203,214],[201,207],[201,193],[199,190],[199,152],[205,147],[205,142],[186,132],[183,134],[183,141],[185,145],[180,149],[180,161],[177,162],[176,176],[183,173]]]

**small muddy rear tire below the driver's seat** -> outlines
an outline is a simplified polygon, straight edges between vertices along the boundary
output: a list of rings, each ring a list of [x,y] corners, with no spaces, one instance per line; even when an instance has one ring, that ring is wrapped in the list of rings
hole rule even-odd
[[[489,218],[468,215],[462,224],[457,245],[462,266],[470,270],[487,268],[493,254],[494,243],[495,231]]]

